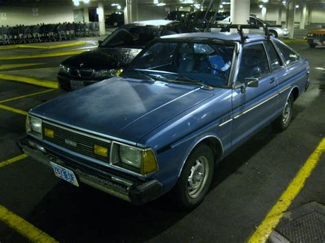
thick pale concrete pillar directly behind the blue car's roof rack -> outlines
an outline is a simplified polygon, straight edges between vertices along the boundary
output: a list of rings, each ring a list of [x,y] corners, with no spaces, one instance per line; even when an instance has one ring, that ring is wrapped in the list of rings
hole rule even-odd
[[[250,0],[231,0],[230,1],[230,22],[233,24],[247,25],[250,19]],[[248,33],[245,29],[245,33]],[[237,29],[230,29],[230,32],[237,33]]]

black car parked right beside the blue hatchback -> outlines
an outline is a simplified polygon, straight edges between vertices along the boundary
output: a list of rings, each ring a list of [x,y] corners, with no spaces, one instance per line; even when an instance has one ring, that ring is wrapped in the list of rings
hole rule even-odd
[[[75,90],[117,75],[150,41],[159,36],[189,33],[196,29],[171,21],[143,21],[123,25],[93,51],[64,60],[58,81],[64,90]]]

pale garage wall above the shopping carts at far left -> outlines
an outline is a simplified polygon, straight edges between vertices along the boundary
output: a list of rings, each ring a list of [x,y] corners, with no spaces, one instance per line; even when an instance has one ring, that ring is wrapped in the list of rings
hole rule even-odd
[[[60,8],[57,4],[51,3],[1,5],[0,7],[0,25],[34,25],[65,21],[73,22],[73,4],[70,2],[60,3]]]

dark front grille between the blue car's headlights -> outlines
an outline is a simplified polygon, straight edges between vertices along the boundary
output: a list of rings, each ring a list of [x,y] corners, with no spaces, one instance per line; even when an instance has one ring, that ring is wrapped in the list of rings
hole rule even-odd
[[[52,125],[46,122],[43,123],[43,134],[45,134],[45,128],[54,131],[54,138],[43,136],[44,140],[53,142],[53,144],[57,144],[58,146],[62,146],[65,149],[69,149],[73,152],[81,153],[82,155],[93,157],[95,159],[100,159],[104,162],[109,162],[109,154],[108,157],[95,155],[93,153],[93,146],[95,144],[104,146],[108,148],[108,151],[110,151],[110,142],[97,140],[96,138],[87,136],[86,133],[80,133],[77,131],[72,131],[70,129],[64,129],[63,127],[58,127],[56,125]]]

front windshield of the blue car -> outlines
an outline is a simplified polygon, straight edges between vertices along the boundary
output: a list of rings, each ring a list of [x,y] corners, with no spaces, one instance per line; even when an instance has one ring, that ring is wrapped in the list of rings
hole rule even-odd
[[[127,71],[145,72],[158,80],[187,83],[195,79],[208,86],[226,87],[233,55],[234,44],[156,42]]]

